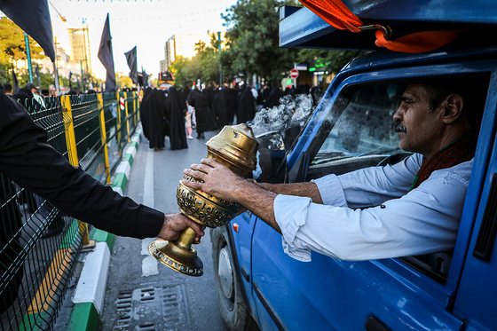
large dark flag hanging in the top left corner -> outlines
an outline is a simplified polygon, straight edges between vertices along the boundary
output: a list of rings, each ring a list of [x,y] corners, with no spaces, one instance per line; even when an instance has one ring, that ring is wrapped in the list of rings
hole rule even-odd
[[[3,0],[0,11],[36,40],[46,56],[55,62],[50,11],[46,0]]]

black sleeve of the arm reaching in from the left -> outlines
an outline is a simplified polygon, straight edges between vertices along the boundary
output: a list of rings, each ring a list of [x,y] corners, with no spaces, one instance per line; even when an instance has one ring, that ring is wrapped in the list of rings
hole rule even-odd
[[[102,185],[47,143],[45,130],[0,94],[0,170],[71,217],[106,232],[154,238],[164,214]]]

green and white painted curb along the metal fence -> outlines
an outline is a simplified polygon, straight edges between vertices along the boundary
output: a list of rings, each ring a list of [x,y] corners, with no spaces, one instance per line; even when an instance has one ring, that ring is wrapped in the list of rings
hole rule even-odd
[[[124,148],[124,157],[115,170],[112,189],[121,195],[130,178],[131,165],[138,151],[142,131],[141,126],[138,126],[130,139],[130,143]],[[99,229],[92,232],[91,239],[97,243],[95,250],[84,259],[83,270],[75,288],[75,296],[73,297],[75,305],[67,324],[68,330],[99,330],[114,238],[114,234]]]

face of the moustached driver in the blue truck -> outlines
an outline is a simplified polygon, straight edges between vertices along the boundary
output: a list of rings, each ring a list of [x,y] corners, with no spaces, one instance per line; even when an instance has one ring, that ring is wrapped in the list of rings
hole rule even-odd
[[[430,98],[424,85],[408,85],[393,115],[399,147],[426,157],[437,152],[444,128],[440,113],[439,107],[430,111]]]

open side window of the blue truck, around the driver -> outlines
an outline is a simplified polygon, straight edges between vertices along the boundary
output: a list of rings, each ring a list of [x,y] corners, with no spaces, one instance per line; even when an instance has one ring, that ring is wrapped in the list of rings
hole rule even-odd
[[[454,79],[470,80],[471,91],[468,105],[471,109],[470,122],[479,130],[485,107],[489,76],[454,76]],[[351,90],[353,89],[353,90]],[[310,147],[317,151],[309,165],[306,180],[334,173],[340,175],[356,169],[371,166],[394,164],[405,159],[406,153],[398,147],[398,134],[392,128],[393,114],[396,112],[406,82],[368,83],[364,86],[344,90],[332,107],[328,119],[330,125],[321,146]],[[465,106],[466,100],[465,98]],[[320,132],[322,135],[323,132]],[[428,275],[441,284],[446,283],[452,251],[424,256],[405,256],[399,260],[415,270]]]

